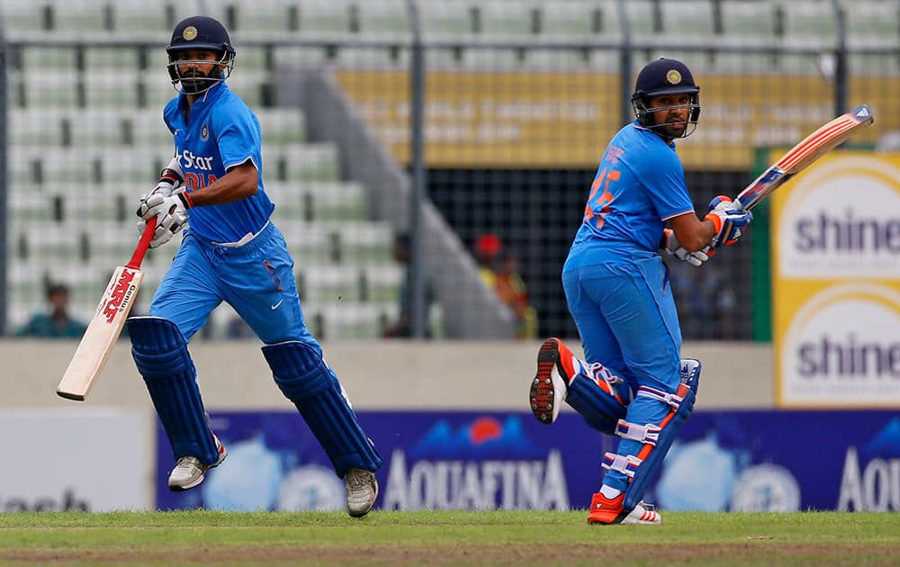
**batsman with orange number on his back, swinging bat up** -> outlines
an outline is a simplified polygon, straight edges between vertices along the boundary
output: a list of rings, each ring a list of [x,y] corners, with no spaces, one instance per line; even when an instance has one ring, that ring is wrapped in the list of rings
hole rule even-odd
[[[700,266],[752,220],[725,196],[694,213],[674,139],[697,127],[699,87],[661,58],[637,76],[636,120],[610,140],[563,266],[563,289],[585,360],[558,338],[537,356],[529,401],[553,423],[563,401],[591,428],[620,437],[590,502],[591,524],[660,524],[648,484],[694,408],[698,360],[681,359],[681,329],[661,250]],[[671,228],[666,228],[666,225]]]

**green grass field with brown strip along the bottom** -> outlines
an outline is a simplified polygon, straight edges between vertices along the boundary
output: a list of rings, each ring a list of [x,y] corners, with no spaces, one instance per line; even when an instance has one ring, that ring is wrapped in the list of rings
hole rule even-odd
[[[900,514],[211,511],[0,514],[0,564],[900,565]]]

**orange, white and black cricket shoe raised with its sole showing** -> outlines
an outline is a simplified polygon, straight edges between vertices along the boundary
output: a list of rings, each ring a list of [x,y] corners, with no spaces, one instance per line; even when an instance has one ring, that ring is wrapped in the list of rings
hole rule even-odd
[[[528,392],[531,411],[538,421],[547,425],[556,421],[575,374],[572,351],[558,338],[545,340],[537,353],[537,374]]]

